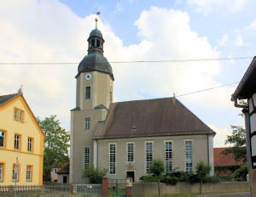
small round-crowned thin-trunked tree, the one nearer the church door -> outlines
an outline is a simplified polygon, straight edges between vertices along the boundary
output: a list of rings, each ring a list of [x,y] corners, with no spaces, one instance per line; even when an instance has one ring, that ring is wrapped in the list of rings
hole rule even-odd
[[[165,172],[165,163],[163,160],[154,159],[152,160],[152,164],[149,167],[149,173],[154,177],[157,177],[158,180],[158,195],[160,197],[160,176]]]

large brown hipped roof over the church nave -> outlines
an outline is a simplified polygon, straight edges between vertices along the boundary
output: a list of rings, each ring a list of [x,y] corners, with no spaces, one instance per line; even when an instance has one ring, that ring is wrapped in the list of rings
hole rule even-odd
[[[141,138],[216,134],[177,98],[112,103],[102,132],[94,138]]]

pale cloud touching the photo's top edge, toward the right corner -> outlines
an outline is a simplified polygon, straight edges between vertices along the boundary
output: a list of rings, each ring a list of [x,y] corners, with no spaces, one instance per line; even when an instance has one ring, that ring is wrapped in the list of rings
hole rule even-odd
[[[189,4],[196,6],[196,11],[208,15],[213,12],[239,12],[247,6],[251,0],[187,0]]]

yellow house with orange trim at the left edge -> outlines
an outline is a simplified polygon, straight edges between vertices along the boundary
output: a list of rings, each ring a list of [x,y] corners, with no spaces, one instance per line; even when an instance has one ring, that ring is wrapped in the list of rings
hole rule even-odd
[[[21,92],[0,96],[0,185],[43,184],[44,137]]]

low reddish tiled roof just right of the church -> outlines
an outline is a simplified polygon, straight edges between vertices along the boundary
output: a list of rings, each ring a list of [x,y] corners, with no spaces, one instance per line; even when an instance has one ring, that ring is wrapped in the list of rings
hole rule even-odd
[[[229,149],[229,148],[227,148],[227,147],[213,148],[214,166],[234,166],[236,164],[243,164],[242,160],[236,162],[236,160],[234,160],[232,154],[220,155],[220,153],[224,149]]]

